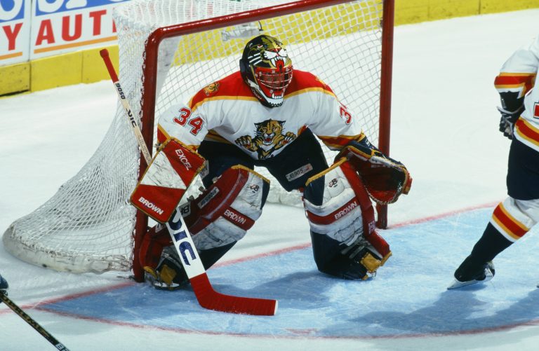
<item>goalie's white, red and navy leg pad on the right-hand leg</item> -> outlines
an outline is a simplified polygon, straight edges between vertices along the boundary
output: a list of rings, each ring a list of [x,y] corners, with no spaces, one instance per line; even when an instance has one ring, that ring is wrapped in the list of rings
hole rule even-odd
[[[389,245],[375,231],[365,187],[344,158],[310,178],[303,198],[321,272],[367,279],[391,256]]]

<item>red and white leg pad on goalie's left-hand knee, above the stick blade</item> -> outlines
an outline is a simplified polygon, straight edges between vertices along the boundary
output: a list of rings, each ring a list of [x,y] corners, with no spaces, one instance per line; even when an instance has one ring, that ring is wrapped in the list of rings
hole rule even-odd
[[[194,245],[208,250],[244,238],[262,214],[270,181],[237,165],[225,170],[204,193],[180,206]]]

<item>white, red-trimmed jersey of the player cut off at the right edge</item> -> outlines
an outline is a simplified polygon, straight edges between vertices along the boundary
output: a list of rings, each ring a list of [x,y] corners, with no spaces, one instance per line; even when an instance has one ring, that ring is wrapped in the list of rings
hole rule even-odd
[[[503,108],[524,111],[514,124],[514,137],[539,151],[539,87],[535,79],[539,69],[539,36],[530,46],[517,50],[502,66],[494,85]],[[535,89],[534,89],[535,87]]]

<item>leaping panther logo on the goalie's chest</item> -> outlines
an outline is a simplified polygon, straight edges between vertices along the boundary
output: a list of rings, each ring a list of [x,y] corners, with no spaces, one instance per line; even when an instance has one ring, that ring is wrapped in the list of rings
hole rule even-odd
[[[283,126],[284,121],[272,119],[255,123],[255,137],[244,135],[236,139],[236,144],[248,151],[258,153],[259,160],[270,158],[275,150],[281,149],[296,138],[293,132],[283,134]]]

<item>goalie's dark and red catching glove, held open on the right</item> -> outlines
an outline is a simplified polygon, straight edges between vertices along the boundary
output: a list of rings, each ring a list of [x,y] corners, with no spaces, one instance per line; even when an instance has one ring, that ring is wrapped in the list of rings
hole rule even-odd
[[[407,194],[412,178],[404,165],[385,156],[364,136],[345,146],[335,161],[345,157],[359,173],[366,191],[380,205],[387,205]]]

